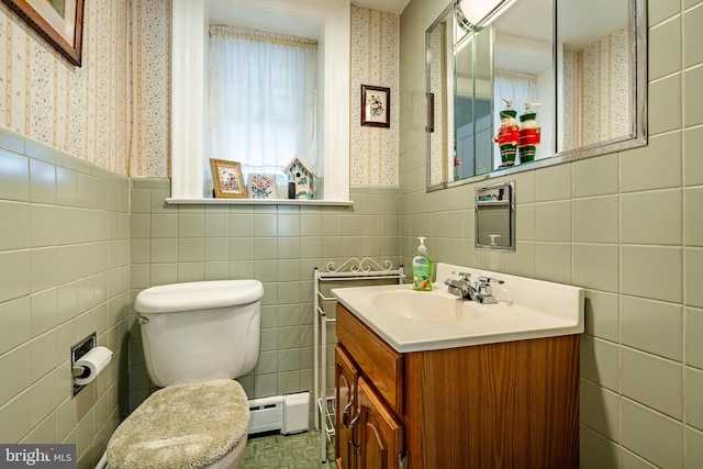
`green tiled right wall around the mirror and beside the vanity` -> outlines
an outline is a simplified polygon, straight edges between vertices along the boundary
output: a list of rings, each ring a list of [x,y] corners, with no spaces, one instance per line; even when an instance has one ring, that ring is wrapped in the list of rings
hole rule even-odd
[[[703,467],[703,2],[648,2],[648,146],[503,178],[514,254],[473,248],[477,185],[425,193],[424,31],[446,3],[401,15],[404,261],[426,235],[439,261],[585,288],[581,466]]]

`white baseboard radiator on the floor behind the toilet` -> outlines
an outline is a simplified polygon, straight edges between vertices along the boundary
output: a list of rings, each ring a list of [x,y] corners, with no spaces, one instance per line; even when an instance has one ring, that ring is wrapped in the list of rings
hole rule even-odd
[[[306,432],[310,392],[249,400],[249,435],[280,431],[283,435]]]

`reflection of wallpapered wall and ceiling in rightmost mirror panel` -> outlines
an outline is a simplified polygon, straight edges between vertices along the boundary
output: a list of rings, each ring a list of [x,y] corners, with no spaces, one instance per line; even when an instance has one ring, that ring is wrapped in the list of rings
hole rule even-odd
[[[557,150],[631,138],[636,101],[627,0],[559,0]],[[594,8],[595,7],[595,8]]]

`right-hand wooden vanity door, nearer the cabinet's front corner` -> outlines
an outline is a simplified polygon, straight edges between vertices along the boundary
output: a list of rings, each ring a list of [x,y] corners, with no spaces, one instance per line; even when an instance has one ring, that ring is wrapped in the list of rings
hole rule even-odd
[[[395,469],[403,450],[403,427],[364,380],[357,387],[359,420],[356,449],[359,469]]]

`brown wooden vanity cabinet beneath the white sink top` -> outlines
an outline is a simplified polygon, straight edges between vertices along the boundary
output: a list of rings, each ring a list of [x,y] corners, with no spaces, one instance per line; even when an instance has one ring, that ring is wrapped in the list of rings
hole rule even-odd
[[[400,354],[337,304],[337,340],[341,469],[579,467],[578,335]]]

